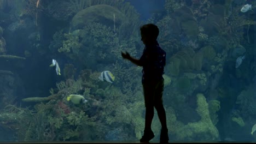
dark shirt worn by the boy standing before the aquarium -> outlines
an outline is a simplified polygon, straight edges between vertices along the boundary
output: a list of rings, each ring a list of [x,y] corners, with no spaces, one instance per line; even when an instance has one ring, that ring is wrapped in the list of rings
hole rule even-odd
[[[161,80],[164,74],[166,52],[161,49],[158,41],[154,44],[145,45],[139,61],[142,62],[142,83],[150,80]]]

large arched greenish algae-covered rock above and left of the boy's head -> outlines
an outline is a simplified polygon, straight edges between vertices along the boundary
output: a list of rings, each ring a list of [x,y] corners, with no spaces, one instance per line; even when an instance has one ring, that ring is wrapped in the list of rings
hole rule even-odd
[[[99,4],[93,5],[79,11],[71,21],[71,30],[81,29],[89,23],[98,22],[107,27],[118,27],[124,20],[125,16],[117,8],[110,5]]]

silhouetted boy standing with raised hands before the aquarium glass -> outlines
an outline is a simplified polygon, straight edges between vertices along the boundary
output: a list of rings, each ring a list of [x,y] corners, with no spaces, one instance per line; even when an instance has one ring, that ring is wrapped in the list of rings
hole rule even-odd
[[[158,44],[159,29],[152,23],[143,25],[141,28],[141,40],[145,48],[140,59],[130,56],[128,52],[121,52],[123,58],[143,67],[142,85],[146,106],[146,118],[144,135],[141,142],[149,142],[155,136],[151,123],[154,117],[154,107],[158,112],[158,117],[162,125],[160,142],[168,142],[168,129],[166,125],[166,114],[162,104],[162,92],[164,91],[164,74],[166,53]]]

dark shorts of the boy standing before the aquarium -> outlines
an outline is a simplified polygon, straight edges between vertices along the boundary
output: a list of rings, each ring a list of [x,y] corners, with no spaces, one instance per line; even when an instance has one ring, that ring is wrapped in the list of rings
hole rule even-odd
[[[145,106],[162,105],[162,92],[164,91],[164,79],[148,81],[143,84]]]

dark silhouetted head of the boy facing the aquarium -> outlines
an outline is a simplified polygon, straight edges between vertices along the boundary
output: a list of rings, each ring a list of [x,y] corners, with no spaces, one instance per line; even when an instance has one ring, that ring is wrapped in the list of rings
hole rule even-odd
[[[152,43],[158,38],[159,29],[158,26],[153,23],[148,23],[141,26],[141,40],[144,44]]]

